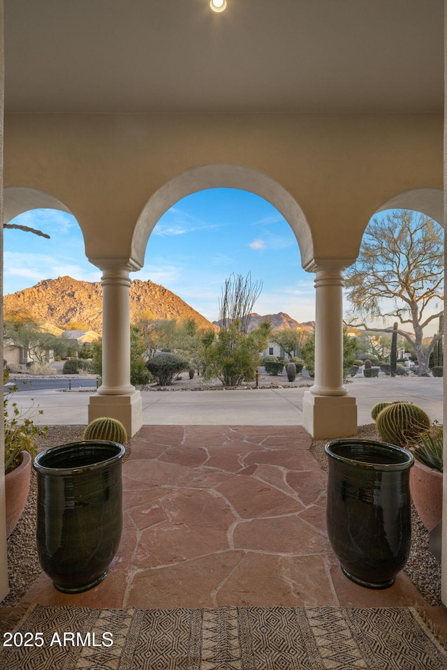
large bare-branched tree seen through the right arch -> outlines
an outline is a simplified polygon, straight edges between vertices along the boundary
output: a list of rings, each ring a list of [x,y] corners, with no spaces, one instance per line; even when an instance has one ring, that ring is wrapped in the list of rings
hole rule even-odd
[[[363,235],[356,262],[346,270],[351,326],[376,332],[367,319],[400,323],[398,334],[413,348],[419,375],[427,375],[430,353],[442,333],[424,343],[424,329],[444,312],[444,241],[441,228],[415,211],[396,209],[374,218]],[[413,329],[413,334],[407,328]]]

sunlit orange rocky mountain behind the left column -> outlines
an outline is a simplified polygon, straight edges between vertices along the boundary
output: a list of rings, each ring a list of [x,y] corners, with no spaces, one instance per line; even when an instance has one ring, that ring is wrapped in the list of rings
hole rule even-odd
[[[153,281],[134,279],[130,288],[131,322],[143,312],[152,313],[155,319],[193,318],[199,327],[209,328],[210,322],[195,309],[164,286]],[[31,288],[11,293],[3,298],[3,308],[8,311],[31,312],[39,323],[64,326],[70,321],[80,321],[89,329],[101,333],[102,329],[101,283],[78,281],[71,277],[44,279]]]

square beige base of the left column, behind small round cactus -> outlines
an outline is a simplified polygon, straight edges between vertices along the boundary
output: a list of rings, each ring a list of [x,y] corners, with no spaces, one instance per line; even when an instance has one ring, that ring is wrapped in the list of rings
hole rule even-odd
[[[94,394],[89,401],[89,422],[99,417],[112,417],[124,424],[131,438],[142,426],[142,399],[140,391],[116,396]]]

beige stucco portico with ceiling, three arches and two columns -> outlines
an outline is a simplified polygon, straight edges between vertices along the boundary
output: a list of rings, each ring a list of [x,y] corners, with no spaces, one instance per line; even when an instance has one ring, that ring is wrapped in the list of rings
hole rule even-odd
[[[103,272],[88,419],[140,428],[130,273],[166,209],[225,186],[277,207],[315,278],[306,428],[356,431],[342,273],[376,212],[444,221],[443,14],[439,0],[228,0],[219,14],[208,0],[6,0],[4,219],[70,211]]]

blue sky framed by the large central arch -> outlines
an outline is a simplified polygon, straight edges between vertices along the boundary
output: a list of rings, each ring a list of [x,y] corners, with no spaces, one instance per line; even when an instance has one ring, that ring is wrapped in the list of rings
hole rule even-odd
[[[284,217],[254,193],[211,188],[182,198],[161,216],[135,278],[162,284],[213,321],[224,280],[249,272],[263,282],[257,313],[314,320],[312,277],[301,267]]]

